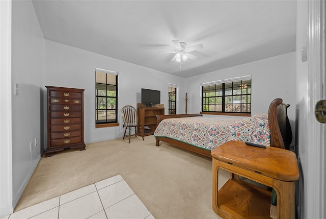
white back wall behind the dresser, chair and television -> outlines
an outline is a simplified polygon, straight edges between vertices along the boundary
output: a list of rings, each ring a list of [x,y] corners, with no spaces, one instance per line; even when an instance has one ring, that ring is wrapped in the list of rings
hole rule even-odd
[[[95,68],[118,71],[119,127],[95,128]],[[167,114],[169,83],[178,84],[180,93],[184,93],[183,78],[45,40],[44,85],[85,89],[86,143],[122,137],[120,110],[125,105],[136,107],[141,102],[141,88],[160,90],[161,103],[165,104]]]

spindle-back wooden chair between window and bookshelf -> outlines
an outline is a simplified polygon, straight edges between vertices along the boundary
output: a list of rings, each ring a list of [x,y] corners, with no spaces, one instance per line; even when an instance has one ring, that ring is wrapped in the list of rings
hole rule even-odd
[[[134,128],[134,136],[137,137],[137,128],[141,125],[138,124],[138,115],[137,111],[133,106],[124,106],[121,109],[121,115],[123,119],[123,127],[125,127],[124,133],[123,133],[123,139],[125,136],[129,137],[129,143],[130,143],[130,129]],[[129,135],[126,135],[126,131],[129,129]],[[141,131],[141,130],[140,130]],[[143,140],[144,137],[142,136]]]

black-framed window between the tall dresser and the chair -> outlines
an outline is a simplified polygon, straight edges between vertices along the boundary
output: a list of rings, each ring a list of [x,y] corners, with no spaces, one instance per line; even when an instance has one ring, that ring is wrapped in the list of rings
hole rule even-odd
[[[118,123],[118,75],[95,71],[96,125]]]

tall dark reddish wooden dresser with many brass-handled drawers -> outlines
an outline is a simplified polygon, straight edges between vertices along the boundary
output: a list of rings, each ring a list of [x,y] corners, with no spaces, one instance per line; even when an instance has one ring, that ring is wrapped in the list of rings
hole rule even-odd
[[[66,148],[85,150],[84,89],[47,88],[47,148],[45,157]]]

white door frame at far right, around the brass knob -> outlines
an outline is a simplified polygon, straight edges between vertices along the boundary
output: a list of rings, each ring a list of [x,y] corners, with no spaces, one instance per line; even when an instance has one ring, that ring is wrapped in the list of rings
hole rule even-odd
[[[305,176],[305,217],[325,218],[325,158],[326,124],[315,119],[314,108],[326,99],[325,81],[325,13],[323,0],[308,1],[308,176]],[[305,145],[301,145],[305,147]]]

